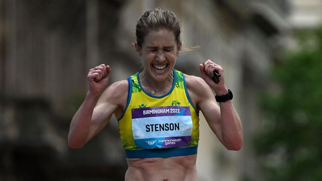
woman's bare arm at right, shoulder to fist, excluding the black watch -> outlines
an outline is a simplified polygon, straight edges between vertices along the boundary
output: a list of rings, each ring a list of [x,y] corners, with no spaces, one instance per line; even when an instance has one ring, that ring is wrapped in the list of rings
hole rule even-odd
[[[207,62],[205,63],[205,66],[207,65]],[[188,90],[190,89],[189,95],[191,94],[196,102],[197,109],[202,111],[209,127],[223,146],[228,150],[239,150],[242,147],[243,141],[241,120],[233,107],[231,100],[221,102],[220,106],[218,106],[210,88],[212,87],[217,95],[228,93],[228,89],[224,85],[222,68],[220,67],[220,70],[217,70],[222,75],[220,77],[221,82],[218,84],[215,84],[206,73],[207,71],[213,72],[213,69],[210,69],[210,67],[207,68],[209,68],[209,70],[205,69],[202,64],[200,65],[200,71],[203,74],[204,80],[199,77],[191,76],[191,82],[186,82]],[[216,68],[218,67],[216,66]]]

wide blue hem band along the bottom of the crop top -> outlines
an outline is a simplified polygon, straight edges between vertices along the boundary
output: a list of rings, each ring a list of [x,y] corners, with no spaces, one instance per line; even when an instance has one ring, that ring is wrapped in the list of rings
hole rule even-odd
[[[125,150],[127,158],[179,157],[197,154],[198,146],[181,148],[159,148],[142,150]]]

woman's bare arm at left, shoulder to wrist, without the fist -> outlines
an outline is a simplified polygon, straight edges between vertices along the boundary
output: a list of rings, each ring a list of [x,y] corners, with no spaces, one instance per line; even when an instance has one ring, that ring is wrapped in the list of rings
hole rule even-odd
[[[118,81],[110,85],[98,101],[96,96],[88,92],[83,104],[71,120],[68,135],[69,146],[71,148],[83,147],[97,135],[108,124],[112,114],[120,106],[120,101],[123,99],[118,98],[119,95],[126,95],[127,91],[128,81]]]

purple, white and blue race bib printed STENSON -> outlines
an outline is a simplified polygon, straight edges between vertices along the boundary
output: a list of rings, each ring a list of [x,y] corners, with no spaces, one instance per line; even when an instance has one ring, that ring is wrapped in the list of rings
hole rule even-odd
[[[190,145],[190,107],[163,106],[132,110],[132,132],[137,148],[174,148]]]

